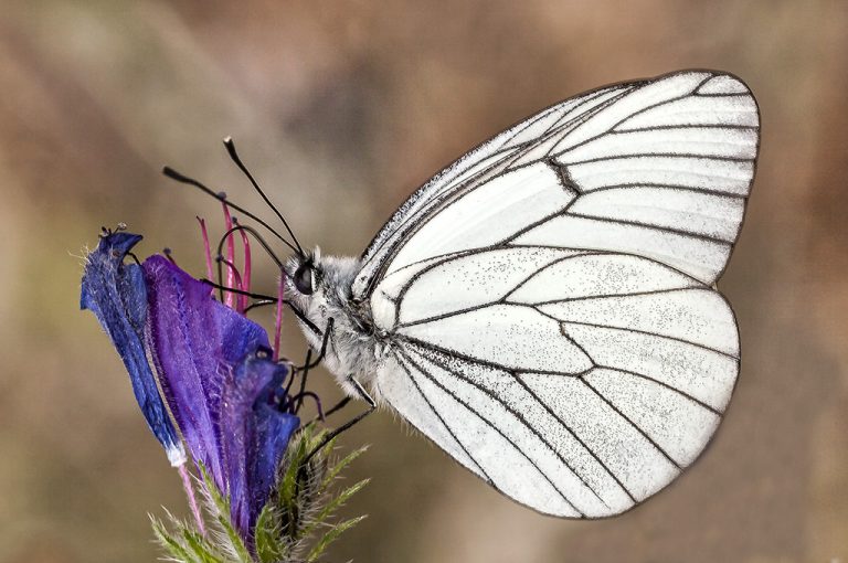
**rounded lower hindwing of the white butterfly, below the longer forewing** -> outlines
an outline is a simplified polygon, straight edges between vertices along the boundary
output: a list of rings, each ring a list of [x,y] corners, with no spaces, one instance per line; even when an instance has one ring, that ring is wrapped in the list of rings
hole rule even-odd
[[[395,293],[380,395],[549,514],[612,516],[665,487],[709,442],[738,373],[724,299],[639,256],[491,249],[433,263]]]

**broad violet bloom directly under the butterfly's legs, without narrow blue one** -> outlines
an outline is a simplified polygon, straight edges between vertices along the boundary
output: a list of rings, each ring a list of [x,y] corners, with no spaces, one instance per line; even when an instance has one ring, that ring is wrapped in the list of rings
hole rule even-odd
[[[151,256],[147,344],[168,405],[191,456],[230,497],[233,523],[247,538],[299,426],[271,360],[265,330],[216,301],[212,288]],[[282,400],[280,400],[282,397]]]

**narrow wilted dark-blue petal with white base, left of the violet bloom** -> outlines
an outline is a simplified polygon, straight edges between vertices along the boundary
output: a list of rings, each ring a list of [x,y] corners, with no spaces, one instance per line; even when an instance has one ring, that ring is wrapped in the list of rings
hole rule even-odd
[[[186,461],[186,452],[156,386],[144,348],[147,293],[141,268],[124,264],[141,235],[116,232],[100,237],[88,254],[83,274],[80,307],[97,317],[124,360],[132,392],[147,424],[165,447],[171,465]]]

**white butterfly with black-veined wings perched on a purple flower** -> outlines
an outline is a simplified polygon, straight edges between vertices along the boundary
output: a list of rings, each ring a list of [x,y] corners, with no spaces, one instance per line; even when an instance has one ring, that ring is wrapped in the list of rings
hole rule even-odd
[[[304,332],[327,333],[350,396],[369,387],[508,497],[623,512],[695,461],[733,391],[714,284],[757,146],[756,103],[724,73],[568,99],[439,172],[361,258],[293,258]]]

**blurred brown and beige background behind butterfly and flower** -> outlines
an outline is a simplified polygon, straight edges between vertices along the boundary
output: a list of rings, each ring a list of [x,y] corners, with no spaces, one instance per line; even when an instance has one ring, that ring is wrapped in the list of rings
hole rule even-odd
[[[373,481],[348,507],[370,518],[329,560],[848,561],[848,3],[3,0],[0,562],[153,561],[146,513],[183,513],[117,354],[78,311],[100,225],[202,273],[194,215],[219,208],[163,163],[269,216],[226,158],[232,135],[303,241],[358,254],[511,123],[685,67],[743,77],[763,126],[720,283],[742,373],[709,450],[637,510],[564,521],[381,413],[341,440],[372,444],[350,478]],[[256,277],[271,290],[267,264]]]

